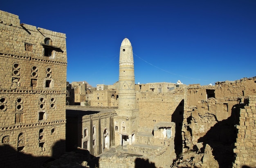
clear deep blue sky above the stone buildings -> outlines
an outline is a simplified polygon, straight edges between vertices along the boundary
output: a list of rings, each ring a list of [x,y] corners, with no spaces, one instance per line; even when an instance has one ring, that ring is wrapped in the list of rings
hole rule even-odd
[[[0,10],[66,34],[70,83],[118,81],[125,37],[135,83],[256,76],[256,0],[2,0]]]

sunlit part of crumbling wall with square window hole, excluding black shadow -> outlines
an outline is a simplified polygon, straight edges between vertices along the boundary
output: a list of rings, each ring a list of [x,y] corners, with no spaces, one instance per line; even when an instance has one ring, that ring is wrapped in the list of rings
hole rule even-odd
[[[244,103],[247,96],[256,94],[255,81],[254,77],[217,82],[215,86],[189,85],[183,124],[186,145],[193,147],[213,125],[236,117],[240,103]]]

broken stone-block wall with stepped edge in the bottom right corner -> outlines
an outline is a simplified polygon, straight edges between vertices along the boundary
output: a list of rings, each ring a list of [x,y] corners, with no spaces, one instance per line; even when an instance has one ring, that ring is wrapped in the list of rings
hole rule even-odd
[[[249,97],[249,104],[240,109],[238,134],[234,153],[234,168],[242,166],[256,167],[256,96]]]

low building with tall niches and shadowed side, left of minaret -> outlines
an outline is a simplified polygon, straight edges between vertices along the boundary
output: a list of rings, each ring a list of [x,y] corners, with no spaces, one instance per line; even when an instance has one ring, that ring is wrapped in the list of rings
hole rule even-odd
[[[67,110],[67,151],[77,147],[98,156],[115,140],[112,126],[114,112]]]

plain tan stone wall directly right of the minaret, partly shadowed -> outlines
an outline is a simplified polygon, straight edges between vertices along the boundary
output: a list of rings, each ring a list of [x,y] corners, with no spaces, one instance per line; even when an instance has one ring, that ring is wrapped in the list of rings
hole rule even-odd
[[[139,94],[137,96],[139,99],[139,132],[152,132],[156,123],[171,122],[174,120],[173,116],[183,119],[184,89],[164,94],[153,92],[137,92],[137,94]],[[182,121],[180,125],[182,125]]]

